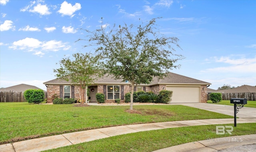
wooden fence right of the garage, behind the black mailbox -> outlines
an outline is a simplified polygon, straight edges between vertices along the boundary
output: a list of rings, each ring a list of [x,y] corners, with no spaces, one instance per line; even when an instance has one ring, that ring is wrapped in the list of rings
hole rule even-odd
[[[253,93],[222,93],[222,100],[230,100],[231,98],[245,98],[247,101],[256,101],[256,92]],[[210,94],[207,94],[207,99],[210,100]]]

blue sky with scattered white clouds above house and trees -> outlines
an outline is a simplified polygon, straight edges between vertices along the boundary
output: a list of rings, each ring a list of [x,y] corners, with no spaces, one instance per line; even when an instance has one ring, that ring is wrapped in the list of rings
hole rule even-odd
[[[93,52],[86,33],[158,19],[185,58],[171,70],[212,85],[256,86],[256,0],[0,0],[0,87],[46,90],[62,58]]]

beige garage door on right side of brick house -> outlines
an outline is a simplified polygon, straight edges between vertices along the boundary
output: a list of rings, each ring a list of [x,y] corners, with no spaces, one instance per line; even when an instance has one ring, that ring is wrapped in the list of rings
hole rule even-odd
[[[166,87],[172,91],[171,103],[200,102],[200,87]]]

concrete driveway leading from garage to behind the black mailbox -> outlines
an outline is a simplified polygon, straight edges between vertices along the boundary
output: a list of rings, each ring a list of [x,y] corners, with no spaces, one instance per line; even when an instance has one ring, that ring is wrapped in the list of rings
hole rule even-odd
[[[222,113],[225,115],[234,116],[234,106],[232,105],[217,105],[211,103],[171,103],[175,105],[186,105],[189,107],[194,107],[198,109],[204,109],[208,111],[213,111],[216,113]],[[256,121],[256,108],[242,107],[239,112],[236,113],[236,117]]]

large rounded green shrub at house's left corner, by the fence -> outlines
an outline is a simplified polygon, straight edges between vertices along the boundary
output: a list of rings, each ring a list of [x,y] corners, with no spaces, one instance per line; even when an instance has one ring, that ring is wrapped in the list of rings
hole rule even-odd
[[[28,103],[40,103],[44,101],[44,91],[41,89],[29,89],[24,92],[24,97]]]

